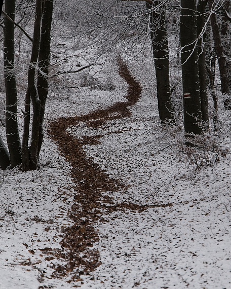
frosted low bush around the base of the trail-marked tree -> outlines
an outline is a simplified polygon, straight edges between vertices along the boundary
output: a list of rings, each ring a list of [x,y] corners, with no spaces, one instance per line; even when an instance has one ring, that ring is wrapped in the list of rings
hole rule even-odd
[[[222,141],[226,130],[222,134],[220,130],[185,137],[181,122],[166,125],[165,128],[156,126],[155,130],[160,132],[156,138],[156,152],[160,153],[171,148],[179,162],[186,162],[194,166],[195,170],[214,165],[229,152]]]

